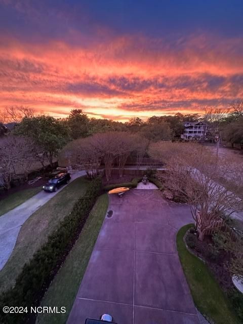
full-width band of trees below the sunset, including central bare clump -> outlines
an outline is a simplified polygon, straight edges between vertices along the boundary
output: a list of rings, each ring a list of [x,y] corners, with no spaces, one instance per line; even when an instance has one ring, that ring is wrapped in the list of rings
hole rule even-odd
[[[54,159],[68,143],[66,155],[69,150],[69,156],[72,156],[72,160],[75,159],[75,164],[84,165],[87,174],[91,177],[95,174],[100,160],[103,159],[108,179],[109,169],[115,159],[121,174],[124,161],[131,152],[136,154],[139,164],[141,157],[139,149],[143,147],[143,144],[161,140],[180,140],[184,130],[184,121],[204,121],[208,125],[205,139],[214,141],[215,136],[218,135],[232,146],[240,144],[243,148],[243,101],[232,103],[230,109],[226,110],[206,110],[201,116],[177,113],[174,116],[152,116],[146,121],[133,117],[127,123],[89,118],[80,109],[73,109],[68,117],[57,119],[48,115],[35,115],[32,109],[22,106],[7,108],[1,117],[0,185],[6,189],[10,188],[11,181],[17,178],[19,173],[27,180],[35,161],[45,167],[45,161],[48,160],[52,167]],[[11,131],[3,124],[6,120],[12,121]],[[80,141],[80,139],[87,140]],[[100,144],[97,144],[99,141]],[[102,150],[101,143],[110,152],[112,151],[112,154]],[[99,155],[98,157],[92,156],[91,147],[94,148],[95,155]],[[121,151],[122,147],[124,152]],[[117,152],[118,148],[119,152]],[[86,157],[85,161],[84,158],[81,159],[81,156]],[[99,163],[97,163],[97,158]]]

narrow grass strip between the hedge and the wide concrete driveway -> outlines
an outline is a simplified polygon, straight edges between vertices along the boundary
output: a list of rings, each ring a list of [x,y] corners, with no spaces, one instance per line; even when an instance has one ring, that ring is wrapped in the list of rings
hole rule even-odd
[[[36,324],[65,324],[84,276],[103,219],[108,208],[107,194],[101,195],[73,249],[54,278],[42,301],[43,306],[64,306],[65,314],[39,314]]]

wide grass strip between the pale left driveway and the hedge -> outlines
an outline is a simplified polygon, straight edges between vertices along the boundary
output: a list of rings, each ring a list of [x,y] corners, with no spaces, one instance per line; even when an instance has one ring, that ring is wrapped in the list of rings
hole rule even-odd
[[[71,212],[75,201],[86,192],[88,183],[84,177],[75,179],[27,219],[21,227],[11,257],[0,271],[0,292],[14,285],[23,265]]]

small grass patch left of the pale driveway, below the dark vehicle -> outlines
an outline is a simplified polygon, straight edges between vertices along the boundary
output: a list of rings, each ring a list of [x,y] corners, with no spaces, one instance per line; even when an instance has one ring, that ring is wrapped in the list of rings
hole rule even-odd
[[[0,200],[0,216],[21,205],[22,203],[24,203],[24,201],[28,200],[41,190],[42,187],[29,188],[15,192],[8,197]]]

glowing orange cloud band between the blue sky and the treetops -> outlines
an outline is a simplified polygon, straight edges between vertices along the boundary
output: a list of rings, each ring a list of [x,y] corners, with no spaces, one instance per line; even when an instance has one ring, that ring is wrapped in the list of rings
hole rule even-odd
[[[2,36],[1,44],[0,109],[21,104],[61,116],[81,107],[90,116],[126,120],[198,112],[243,97],[237,38],[191,35],[170,45],[120,36],[85,47]]]

